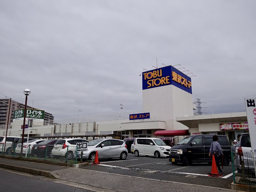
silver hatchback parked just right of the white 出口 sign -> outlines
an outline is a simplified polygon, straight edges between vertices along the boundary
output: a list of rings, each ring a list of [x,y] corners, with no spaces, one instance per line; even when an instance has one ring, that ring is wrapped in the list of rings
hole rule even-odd
[[[87,150],[83,151],[83,160],[95,160],[96,151],[99,159],[120,158],[125,160],[128,154],[124,140],[118,139],[96,139],[87,143]],[[76,157],[76,153],[73,154]],[[77,153],[77,158],[81,159],[81,152]]]

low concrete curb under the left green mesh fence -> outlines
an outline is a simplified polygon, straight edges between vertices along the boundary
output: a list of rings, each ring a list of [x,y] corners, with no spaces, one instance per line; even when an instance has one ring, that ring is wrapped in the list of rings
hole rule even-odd
[[[19,161],[28,161],[28,162],[34,162],[34,163],[43,163],[43,164],[49,164],[49,165],[58,165],[58,166],[65,166],[65,167],[74,167],[74,168],[80,168],[80,167],[89,165],[88,162],[79,163],[79,164],[70,164],[70,163],[45,161],[45,160],[40,160],[40,159],[28,159],[28,158],[23,158],[23,157],[11,157],[11,156],[3,156],[3,155],[0,155],[0,158],[13,159],[13,160],[19,160]]]

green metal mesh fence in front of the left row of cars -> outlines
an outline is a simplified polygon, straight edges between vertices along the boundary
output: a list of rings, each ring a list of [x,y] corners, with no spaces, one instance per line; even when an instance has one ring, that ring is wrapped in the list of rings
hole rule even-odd
[[[47,144],[28,144],[27,146],[27,144],[24,143],[23,149],[21,149],[21,144],[12,144],[11,148],[5,148],[5,151],[4,144],[0,144],[0,148],[0,154],[4,156],[77,164],[77,146]]]

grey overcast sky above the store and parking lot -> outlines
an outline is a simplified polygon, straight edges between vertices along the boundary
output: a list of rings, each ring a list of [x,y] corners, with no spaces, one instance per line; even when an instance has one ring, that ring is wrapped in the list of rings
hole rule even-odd
[[[55,119],[142,110],[143,68],[196,75],[206,114],[256,96],[255,1],[0,0],[0,93]],[[183,69],[180,69],[183,70]],[[186,73],[186,72],[184,72]],[[0,98],[4,98],[1,95]],[[194,100],[193,100],[194,101]],[[212,108],[213,107],[213,108]]]

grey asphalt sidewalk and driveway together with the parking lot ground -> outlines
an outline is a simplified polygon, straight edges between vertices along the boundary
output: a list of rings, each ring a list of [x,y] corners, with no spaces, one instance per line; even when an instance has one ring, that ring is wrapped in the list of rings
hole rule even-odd
[[[135,157],[133,154],[128,154],[125,161],[100,160],[99,165],[89,164],[83,168],[67,168],[2,158],[0,163],[47,170],[58,178],[50,179],[52,182],[99,192],[157,192],[169,189],[173,192],[231,191],[232,183],[232,177],[224,179],[208,177],[204,174],[197,175],[199,169],[210,172],[209,164],[183,167],[171,164],[168,158]]]

